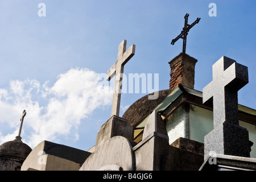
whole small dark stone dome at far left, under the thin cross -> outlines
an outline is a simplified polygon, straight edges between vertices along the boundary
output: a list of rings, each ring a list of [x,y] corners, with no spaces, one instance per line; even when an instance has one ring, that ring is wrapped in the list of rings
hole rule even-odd
[[[19,170],[32,149],[20,139],[3,143],[0,146],[0,171]]]

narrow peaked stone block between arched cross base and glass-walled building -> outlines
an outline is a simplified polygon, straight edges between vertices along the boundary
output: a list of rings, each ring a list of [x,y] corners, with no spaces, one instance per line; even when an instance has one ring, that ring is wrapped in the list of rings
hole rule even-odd
[[[162,118],[153,111],[144,127],[142,141],[133,147],[136,170],[166,170],[169,138]]]

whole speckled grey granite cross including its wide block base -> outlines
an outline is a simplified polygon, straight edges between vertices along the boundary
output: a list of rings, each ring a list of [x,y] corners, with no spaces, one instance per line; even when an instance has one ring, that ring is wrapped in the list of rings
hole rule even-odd
[[[203,103],[213,102],[213,130],[204,137],[204,159],[215,152],[250,157],[249,133],[239,126],[237,92],[248,82],[247,67],[228,57],[212,66],[213,80],[203,88]]]

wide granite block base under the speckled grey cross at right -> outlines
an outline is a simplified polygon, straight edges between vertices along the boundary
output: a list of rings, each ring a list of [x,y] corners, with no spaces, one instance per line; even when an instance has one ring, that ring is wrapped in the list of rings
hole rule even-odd
[[[250,157],[249,133],[238,125],[221,123],[204,137],[204,158],[216,154]]]

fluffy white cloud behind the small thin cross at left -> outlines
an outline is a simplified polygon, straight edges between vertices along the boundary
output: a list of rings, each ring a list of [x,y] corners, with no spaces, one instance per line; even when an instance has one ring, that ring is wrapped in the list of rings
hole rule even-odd
[[[10,81],[9,89],[0,89],[0,128],[5,125],[6,129],[7,125],[10,130],[0,130],[0,143],[18,134],[23,109],[27,115],[21,137],[25,136],[23,142],[31,147],[61,136],[78,139],[81,119],[112,104],[112,93],[101,85],[98,75],[86,68],[75,68],[59,75],[53,86],[48,86],[48,81],[43,85],[30,79]]]

